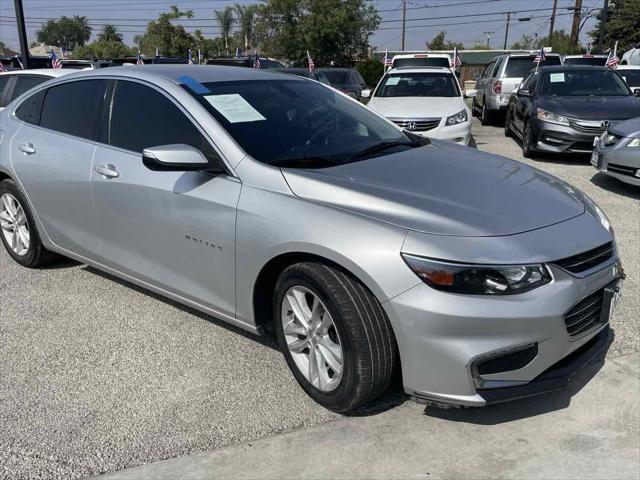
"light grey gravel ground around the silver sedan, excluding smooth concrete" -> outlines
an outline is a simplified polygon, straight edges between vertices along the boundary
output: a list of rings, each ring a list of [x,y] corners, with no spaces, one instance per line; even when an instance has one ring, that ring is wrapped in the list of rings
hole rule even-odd
[[[502,129],[478,148],[522,160]],[[588,159],[529,161],[612,220],[628,273],[609,355],[638,351],[640,189]],[[339,418],[274,345],[92,268],[19,268],[0,252],[0,477],[80,478]]]

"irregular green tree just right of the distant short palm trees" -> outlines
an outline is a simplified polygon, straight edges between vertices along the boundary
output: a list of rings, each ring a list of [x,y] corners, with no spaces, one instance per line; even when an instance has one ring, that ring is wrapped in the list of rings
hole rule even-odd
[[[193,11],[181,11],[172,5],[169,12],[161,13],[157,20],[149,22],[144,35],[138,39],[141,52],[147,56],[153,56],[156,49],[159,49],[162,55],[186,57],[187,51],[195,44],[195,39],[185,31],[182,25],[172,23],[183,17],[193,17]]]

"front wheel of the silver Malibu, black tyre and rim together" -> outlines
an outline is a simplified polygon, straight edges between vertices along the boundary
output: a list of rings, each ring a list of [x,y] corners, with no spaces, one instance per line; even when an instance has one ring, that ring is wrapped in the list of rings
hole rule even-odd
[[[397,366],[395,336],[380,302],[358,280],[316,262],[277,281],[274,318],[289,368],[316,402],[346,412],[384,393]]]

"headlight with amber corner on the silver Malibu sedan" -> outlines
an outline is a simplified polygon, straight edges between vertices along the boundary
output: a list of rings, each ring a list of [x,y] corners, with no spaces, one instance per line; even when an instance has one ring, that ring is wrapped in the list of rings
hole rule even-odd
[[[427,285],[451,293],[514,295],[551,281],[542,264],[466,265],[405,254],[402,258]]]

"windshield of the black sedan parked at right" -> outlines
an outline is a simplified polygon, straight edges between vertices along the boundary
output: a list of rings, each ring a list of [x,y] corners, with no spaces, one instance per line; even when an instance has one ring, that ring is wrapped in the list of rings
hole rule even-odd
[[[629,89],[613,70],[567,70],[541,75],[542,95],[627,96]]]

